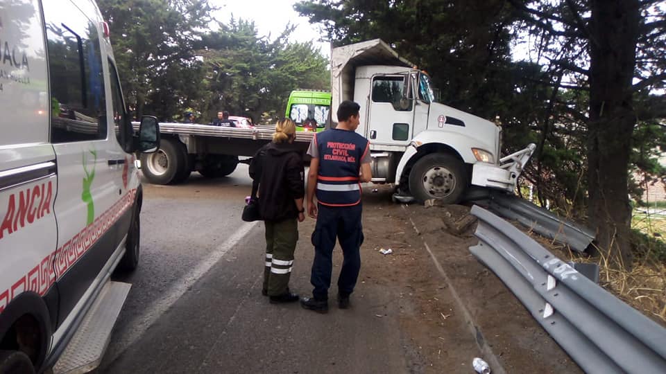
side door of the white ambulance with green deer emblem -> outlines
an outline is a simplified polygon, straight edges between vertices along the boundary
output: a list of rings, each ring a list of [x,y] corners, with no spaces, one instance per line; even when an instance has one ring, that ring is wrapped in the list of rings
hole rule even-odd
[[[122,191],[117,188],[113,124],[99,19],[70,1],[43,1],[51,89],[51,142],[58,166],[58,326],[74,316],[84,294],[117,247]],[[71,318],[65,323],[69,324]]]

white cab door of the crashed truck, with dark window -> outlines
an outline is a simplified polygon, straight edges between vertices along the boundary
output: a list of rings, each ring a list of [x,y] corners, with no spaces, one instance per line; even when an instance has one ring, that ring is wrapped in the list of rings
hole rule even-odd
[[[409,145],[414,105],[407,82],[407,74],[373,76],[366,134],[373,145]]]

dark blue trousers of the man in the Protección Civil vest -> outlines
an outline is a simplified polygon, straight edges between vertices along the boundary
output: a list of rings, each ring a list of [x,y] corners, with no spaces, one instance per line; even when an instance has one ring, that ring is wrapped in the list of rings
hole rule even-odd
[[[338,278],[338,292],[348,296],[354,291],[361,269],[361,243],[363,243],[363,226],[361,226],[361,204],[355,206],[325,206],[319,204],[317,224],[312,233],[314,245],[314,262],[310,283],[314,286],[314,299],[328,299],[333,271],[333,248],[335,240],[339,240],[344,260]]]

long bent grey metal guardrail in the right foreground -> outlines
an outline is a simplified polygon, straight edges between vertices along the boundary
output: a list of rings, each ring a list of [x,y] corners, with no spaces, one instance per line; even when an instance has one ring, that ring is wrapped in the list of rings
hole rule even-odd
[[[472,254],[587,373],[664,373],[666,329],[479,206]]]

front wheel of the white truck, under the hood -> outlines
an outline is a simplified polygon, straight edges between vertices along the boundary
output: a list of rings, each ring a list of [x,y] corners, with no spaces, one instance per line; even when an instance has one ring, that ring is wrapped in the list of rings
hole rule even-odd
[[[428,154],[409,172],[409,191],[421,203],[440,199],[444,204],[457,204],[466,189],[465,166],[450,154]]]

